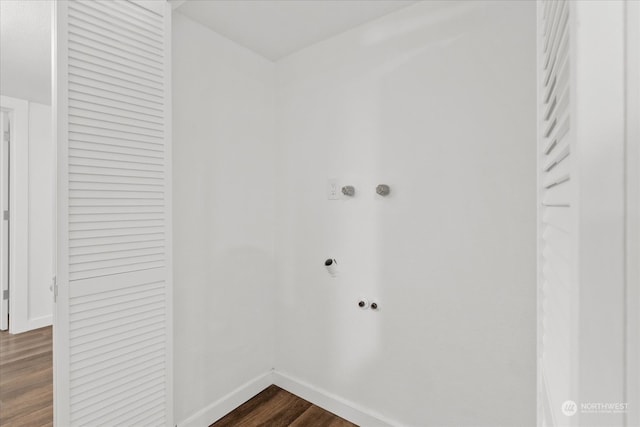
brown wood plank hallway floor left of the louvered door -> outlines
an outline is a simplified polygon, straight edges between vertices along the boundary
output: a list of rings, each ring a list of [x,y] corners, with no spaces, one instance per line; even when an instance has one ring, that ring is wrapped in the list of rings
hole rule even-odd
[[[51,327],[0,331],[0,426],[53,425]]]

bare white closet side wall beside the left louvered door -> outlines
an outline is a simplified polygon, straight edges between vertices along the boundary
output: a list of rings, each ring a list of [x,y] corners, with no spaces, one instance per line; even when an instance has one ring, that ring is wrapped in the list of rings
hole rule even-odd
[[[273,367],[273,73],[174,13],[177,422]]]

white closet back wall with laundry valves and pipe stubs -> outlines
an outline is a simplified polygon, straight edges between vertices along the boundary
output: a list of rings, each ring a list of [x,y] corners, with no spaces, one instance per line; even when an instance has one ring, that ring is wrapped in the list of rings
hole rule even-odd
[[[278,63],[277,371],[397,425],[535,424],[535,59],[533,2],[474,1]]]

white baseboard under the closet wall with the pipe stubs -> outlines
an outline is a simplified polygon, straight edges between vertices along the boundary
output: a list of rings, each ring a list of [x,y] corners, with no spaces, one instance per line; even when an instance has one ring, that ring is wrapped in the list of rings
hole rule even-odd
[[[389,420],[375,411],[364,408],[343,399],[340,396],[329,393],[326,390],[305,383],[291,375],[274,371],[273,384],[308,400],[316,406],[326,409],[329,412],[333,412],[339,417],[342,417],[347,421],[351,421],[354,424],[366,427],[402,427],[402,424]]]

